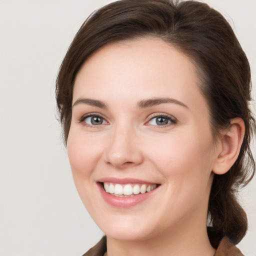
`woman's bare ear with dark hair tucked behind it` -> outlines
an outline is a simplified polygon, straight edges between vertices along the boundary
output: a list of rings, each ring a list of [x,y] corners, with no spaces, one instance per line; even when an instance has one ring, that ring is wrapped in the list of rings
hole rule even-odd
[[[217,146],[217,158],[212,168],[215,174],[224,174],[234,164],[240,152],[244,131],[242,118],[236,117],[230,120],[230,127],[220,137]]]

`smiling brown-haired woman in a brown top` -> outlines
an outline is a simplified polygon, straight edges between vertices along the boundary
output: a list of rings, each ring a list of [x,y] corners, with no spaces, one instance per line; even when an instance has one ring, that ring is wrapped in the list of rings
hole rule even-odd
[[[221,14],[197,1],[102,7],[73,39],[56,99],[76,188],[106,234],[84,255],[242,255],[250,69]]]

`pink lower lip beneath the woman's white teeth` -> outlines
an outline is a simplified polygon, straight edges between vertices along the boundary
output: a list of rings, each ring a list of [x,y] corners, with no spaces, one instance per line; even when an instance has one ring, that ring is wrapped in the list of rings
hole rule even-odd
[[[132,206],[146,200],[151,195],[153,195],[154,191],[157,189],[157,187],[156,187],[155,189],[151,190],[150,192],[145,192],[143,194],[139,193],[139,194],[127,196],[127,197],[121,197],[121,196],[114,196],[112,194],[107,193],[101,184],[98,184],[98,186],[99,186],[99,191],[100,191],[103,199],[108,204],[110,204],[114,207],[119,207],[119,208],[132,207]]]

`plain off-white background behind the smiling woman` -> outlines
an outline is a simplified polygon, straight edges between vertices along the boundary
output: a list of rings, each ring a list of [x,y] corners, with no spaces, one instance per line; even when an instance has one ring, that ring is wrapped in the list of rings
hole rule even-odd
[[[102,235],[73,184],[55,118],[54,81],[81,23],[108,2],[0,0],[1,256],[78,256]],[[256,86],[256,0],[206,2],[234,28]],[[240,199],[249,230],[238,247],[255,256],[255,178]]]

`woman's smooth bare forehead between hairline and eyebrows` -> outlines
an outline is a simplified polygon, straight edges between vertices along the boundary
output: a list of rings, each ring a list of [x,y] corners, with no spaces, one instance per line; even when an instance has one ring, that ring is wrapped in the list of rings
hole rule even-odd
[[[203,100],[193,63],[159,38],[111,43],[92,54],[76,76],[73,101],[95,95],[101,100],[152,96],[192,99],[194,104],[198,97]]]

